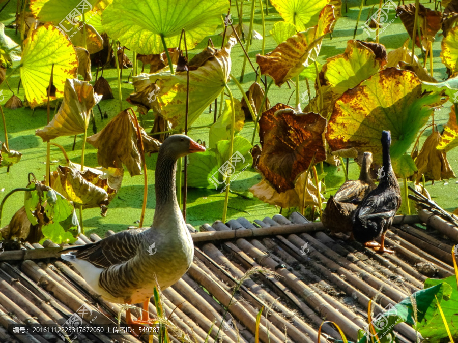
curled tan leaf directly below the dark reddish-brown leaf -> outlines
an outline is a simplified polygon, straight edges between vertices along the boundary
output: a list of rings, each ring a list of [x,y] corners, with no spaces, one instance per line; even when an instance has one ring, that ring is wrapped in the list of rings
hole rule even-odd
[[[305,174],[306,172],[302,172],[298,176],[294,189],[292,190],[278,193],[274,186],[263,177],[261,182],[251,186],[249,191],[259,200],[271,205],[280,206],[282,208],[299,207],[301,206],[304,195]],[[309,175],[307,180],[307,189],[305,190],[305,206],[318,206],[317,193],[317,186],[314,184]],[[325,201],[325,198],[321,193],[320,196],[322,202]]]

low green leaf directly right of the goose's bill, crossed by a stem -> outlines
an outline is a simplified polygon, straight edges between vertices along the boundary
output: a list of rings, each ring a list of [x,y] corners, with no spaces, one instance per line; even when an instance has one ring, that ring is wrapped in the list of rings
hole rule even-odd
[[[229,144],[228,140],[219,141],[216,148],[189,155],[189,187],[223,188],[225,175],[230,175],[231,181],[235,180],[239,172],[251,166],[253,159],[250,142],[241,136],[235,136],[231,158],[228,155]]]

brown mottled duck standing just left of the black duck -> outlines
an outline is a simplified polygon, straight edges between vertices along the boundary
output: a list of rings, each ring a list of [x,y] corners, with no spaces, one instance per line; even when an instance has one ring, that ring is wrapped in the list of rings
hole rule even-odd
[[[372,154],[364,152],[361,171],[357,180],[347,180],[340,186],[334,196],[330,196],[323,211],[323,225],[331,229],[331,234],[350,233],[353,239],[353,212],[364,197],[376,188],[369,175]]]

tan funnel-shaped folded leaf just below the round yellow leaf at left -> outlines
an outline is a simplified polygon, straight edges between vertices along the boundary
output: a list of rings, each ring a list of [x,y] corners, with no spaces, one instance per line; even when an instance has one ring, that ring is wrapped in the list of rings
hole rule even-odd
[[[77,79],[65,82],[64,101],[54,118],[35,134],[47,142],[60,136],[73,136],[86,132],[91,109],[102,99],[94,93],[92,85]]]

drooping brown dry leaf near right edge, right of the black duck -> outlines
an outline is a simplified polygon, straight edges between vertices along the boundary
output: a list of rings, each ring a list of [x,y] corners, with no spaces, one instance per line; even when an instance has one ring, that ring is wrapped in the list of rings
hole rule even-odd
[[[426,181],[440,181],[455,177],[447,160],[447,152],[437,149],[440,139],[441,134],[433,130],[431,135],[424,141],[423,147],[415,160],[418,168],[417,179],[421,178],[421,174],[424,174]]]

